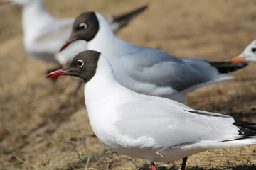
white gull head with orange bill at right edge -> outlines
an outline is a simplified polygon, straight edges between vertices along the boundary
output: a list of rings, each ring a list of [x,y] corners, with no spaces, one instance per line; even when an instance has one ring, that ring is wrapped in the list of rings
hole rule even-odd
[[[230,62],[256,62],[256,40],[253,40],[250,45],[248,45],[245,50],[238,56],[233,57]]]

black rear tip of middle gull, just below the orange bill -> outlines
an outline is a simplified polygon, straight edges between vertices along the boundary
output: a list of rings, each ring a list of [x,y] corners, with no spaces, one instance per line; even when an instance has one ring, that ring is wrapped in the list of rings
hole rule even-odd
[[[234,72],[238,69],[242,69],[243,67],[246,67],[246,63],[235,63],[232,64],[231,62],[209,62],[213,67],[218,69],[218,72],[221,74]]]

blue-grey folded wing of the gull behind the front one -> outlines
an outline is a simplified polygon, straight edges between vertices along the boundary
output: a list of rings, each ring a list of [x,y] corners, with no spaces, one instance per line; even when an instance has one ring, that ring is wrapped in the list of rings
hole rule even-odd
[[[180,59],[153,48],[145,48],[129,56],[129,60],[134,61],[129,69],[132,70],[130,76],[136,81],[171,86],[176,91],[215,79],[218,75],[218,70],[204,58]]]

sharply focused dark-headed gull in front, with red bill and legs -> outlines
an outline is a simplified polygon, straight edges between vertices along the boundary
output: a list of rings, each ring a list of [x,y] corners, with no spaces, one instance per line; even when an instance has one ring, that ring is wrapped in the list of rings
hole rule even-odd
[[[95,135],[119,154],[154,162],[186,159],[206,149],[256,144],[255,123],[197,111],[168,98],[139,94],[120,85],[105,55],[80,52],[67,67],[47,77],[85,81],[85,103]]]

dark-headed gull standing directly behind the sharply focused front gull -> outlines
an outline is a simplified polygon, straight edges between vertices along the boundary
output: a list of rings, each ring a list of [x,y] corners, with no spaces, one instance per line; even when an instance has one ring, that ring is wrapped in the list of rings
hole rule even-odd
[[[75,19],[70,38],[60,50],[76,40],[87,41],[88,50],[107,56],[123,86],[176,101],[185,101],[185,94],[198,87],[232,79],[228,72],[245,67],[245,64],[210,62],[201,57],[177,58],[155,48],[132,45],[119,40],[97,12],[82,13]]]

